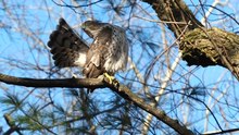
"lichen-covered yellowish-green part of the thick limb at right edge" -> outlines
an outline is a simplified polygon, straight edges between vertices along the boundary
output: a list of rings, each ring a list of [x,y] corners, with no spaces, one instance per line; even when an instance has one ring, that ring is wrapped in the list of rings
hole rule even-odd
[[[239,36],[219,28],[196,28],[181,38],[179,48],[188,65],[239,65]]]

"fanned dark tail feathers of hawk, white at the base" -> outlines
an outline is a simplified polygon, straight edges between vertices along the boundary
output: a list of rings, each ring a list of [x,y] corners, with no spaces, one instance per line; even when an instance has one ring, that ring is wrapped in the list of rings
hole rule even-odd
[[[51,48],[54,64],[59,68],[83,68],[86,63],[89,47],[63,19],[60,19],[56,29],[50,35],[48,46]]]

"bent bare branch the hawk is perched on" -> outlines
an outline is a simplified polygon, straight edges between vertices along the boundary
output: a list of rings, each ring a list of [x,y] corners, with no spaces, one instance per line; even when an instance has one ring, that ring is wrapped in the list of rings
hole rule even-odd
[[[177,120],[173,120],[167,116],[164,111],[159,110],[144,102],[140,97],[131,93],[129,88],[124,85],[112,85],[109,83],[108,78],[65,78],[65,79],[34,79],[34,78],[22,78],[13,77],[4,74],[0,74],[0,82],[20,85],[26,87],[71,87],[71,88],[104,88],[109,87],[113,91],[117,93],[121,97],[126,100],[131,101],[137,107],[151,113],[158,120],[164,122],[169,127],[174,128],[179,134],[192,135],[193,133],[186,126],[180,125]]]

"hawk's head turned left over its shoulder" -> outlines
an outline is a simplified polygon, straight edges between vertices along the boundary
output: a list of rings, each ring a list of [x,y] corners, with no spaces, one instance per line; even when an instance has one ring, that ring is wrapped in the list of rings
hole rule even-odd
[[[87,33],[88,36],[93,38],[97,36],[103,25],[104,23],[99,21],[86,21],[81,24],[81,28]]]

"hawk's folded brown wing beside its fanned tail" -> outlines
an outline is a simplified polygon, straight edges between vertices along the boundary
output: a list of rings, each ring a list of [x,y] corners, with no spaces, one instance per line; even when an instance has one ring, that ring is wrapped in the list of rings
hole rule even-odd
[[[87,60],[83,73],[86,77],[98,77],[105,72],[104,63],[110,56],[109,45],[112,42],[113,29],[104,26],[98,33],[87,52]]]

